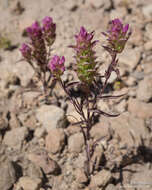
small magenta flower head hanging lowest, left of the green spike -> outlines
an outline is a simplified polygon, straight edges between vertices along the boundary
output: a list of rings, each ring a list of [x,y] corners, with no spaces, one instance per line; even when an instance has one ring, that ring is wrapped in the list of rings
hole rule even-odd
[[[65,58],[62,56],[61,58],[57,55],[54,55],[50,60],[48,67],[56,76],[60,76],[65,71],[64,66]]]

